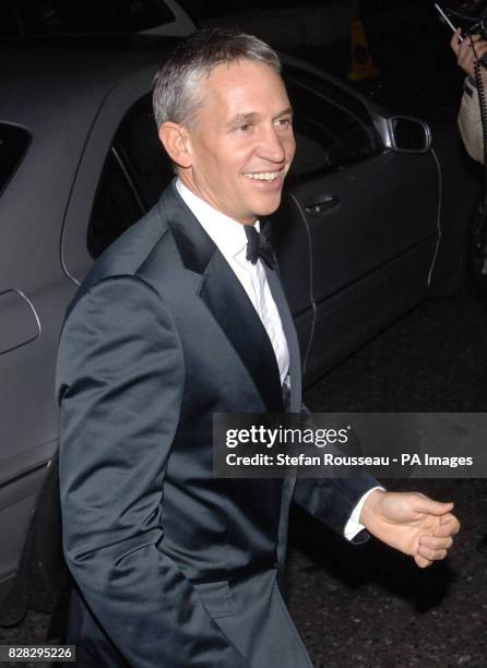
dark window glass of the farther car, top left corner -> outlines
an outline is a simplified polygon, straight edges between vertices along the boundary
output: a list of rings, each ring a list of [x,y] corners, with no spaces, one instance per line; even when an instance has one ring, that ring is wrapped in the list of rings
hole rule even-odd
[[[0,37],[138,33],[171,23],[162,0],[14,0],[0,8]]]

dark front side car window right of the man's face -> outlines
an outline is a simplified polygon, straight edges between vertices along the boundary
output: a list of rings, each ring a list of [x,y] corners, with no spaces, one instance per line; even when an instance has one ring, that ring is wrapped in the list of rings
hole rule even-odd
[[[333,169],[377,153],[380,143],[367,110],[353,96],[333,91],[316,80],[286,77],[295,110],[295,176]],[[337,99],[338,98],[338,99]]]

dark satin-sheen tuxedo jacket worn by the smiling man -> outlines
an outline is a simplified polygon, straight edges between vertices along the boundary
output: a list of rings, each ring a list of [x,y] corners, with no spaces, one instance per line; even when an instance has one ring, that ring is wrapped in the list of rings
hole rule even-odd
[[[299,411],[296,333],[268,278]],[[257,312],[174,184],[76,294],[57,392],[80,665],[310,666],[276,578],[292,498],[342,532],[373,480],[212,477],[212,414],[280,411],[282,390]]]

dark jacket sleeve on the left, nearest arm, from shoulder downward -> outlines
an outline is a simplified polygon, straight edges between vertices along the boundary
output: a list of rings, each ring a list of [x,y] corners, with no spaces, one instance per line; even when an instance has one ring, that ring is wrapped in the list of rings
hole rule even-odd
[[[157,549],[183,383],[176,326],[150,285],[111,277],[80,298],[57,371],[64,554],[130,665],[249,668]]]

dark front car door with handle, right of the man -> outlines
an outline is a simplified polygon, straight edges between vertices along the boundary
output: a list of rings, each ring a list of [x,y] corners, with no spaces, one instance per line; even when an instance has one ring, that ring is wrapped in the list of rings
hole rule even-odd
[[[274,239],[312,374],[425,296],[438,171],[429,153],[385,150],[352,92],[297,67],[285,80],[297,153]]]

